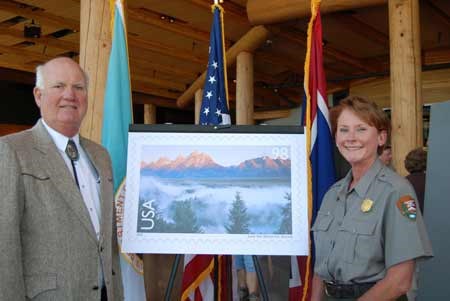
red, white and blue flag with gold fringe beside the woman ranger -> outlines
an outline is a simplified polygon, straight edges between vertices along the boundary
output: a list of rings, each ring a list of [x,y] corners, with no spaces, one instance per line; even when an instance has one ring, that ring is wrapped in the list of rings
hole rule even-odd
[[[304,88],[306,94],[306,131],[310,161],[309,216],[314,223],[322,198],[335,182],[333,141],[326,102],[326,79],[322,55],[322,21],[320,0],[311,1],[311,20],[308,26],[308,48],[305,59]],[[311,239],[310,256],[294,257],[289,300],[310,300],[311,279],[314,273],[314,245]]]

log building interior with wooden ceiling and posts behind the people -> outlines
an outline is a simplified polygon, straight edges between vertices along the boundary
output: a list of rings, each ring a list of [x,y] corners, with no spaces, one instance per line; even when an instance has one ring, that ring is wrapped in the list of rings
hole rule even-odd
[[[126,1],[136,123],[198,120],[211,4]],[[221,5],[232,122],[258,124],[299,114],[309,1],[225,0]],[[321,12],[329,104],[355,94],[390,109],[394,165],[404,172],[405,154],[424,143],[423,105],[450,99],[450,1],[323,0]],[[110,45],[108,0],[0,1],[0,85],[6,102],[0,135],[36,122],[35,68],[69,56],[89,75],[82,133],[98,141]],[[147,263],[167,263],[168,273],[171,260],[154,255]],[[146,283],[161,296],[167,277],[157,276],[148,276],[156,278]]]

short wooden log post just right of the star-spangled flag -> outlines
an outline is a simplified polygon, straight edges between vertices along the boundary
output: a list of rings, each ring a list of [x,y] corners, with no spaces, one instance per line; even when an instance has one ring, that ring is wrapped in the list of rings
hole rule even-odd
[[[253,54],[241,52],[236,62],[236,124],[253,124]]]

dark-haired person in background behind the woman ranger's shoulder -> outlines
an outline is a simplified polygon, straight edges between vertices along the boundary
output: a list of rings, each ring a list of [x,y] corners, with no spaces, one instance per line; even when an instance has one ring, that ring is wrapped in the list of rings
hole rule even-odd
[[[409,172],[406,179],[414,187],[423,214],[425,197],[425,171],[427,168],[427,151],[422,147],[413,149],[405,158],[405,168]]]

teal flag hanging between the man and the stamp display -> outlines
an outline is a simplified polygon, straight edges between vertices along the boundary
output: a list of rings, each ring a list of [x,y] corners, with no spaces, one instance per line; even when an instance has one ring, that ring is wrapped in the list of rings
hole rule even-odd
[[[122,1],[114,3],[114,27],[106,80],[103,108],[102,145],[111,156],[115,207],[117,214],[117,238],[122,244],[122,221],[127,170],[128,127],[132,123],[130,68]],[[123,185],[122,185],[123,184]],[[120,267],[125,301],[144,301],[143,263],[136,254],[120,254]]]

